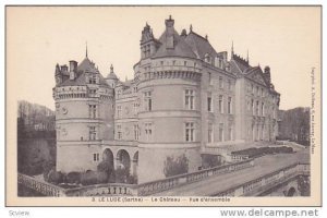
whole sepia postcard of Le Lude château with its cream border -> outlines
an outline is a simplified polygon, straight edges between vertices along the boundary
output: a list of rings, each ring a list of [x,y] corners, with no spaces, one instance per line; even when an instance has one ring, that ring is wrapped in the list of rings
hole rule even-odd
[[[7,5],[7,205],[322,205],[322,7]]]

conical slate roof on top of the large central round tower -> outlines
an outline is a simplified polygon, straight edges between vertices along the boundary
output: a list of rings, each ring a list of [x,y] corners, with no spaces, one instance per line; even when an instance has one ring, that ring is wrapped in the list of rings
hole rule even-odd
[[[177,33],[175,29],[173,29],[173,49],[167,49],[167,29],[160,36],[159,41],[161,43],[161,45],[155,53],[154,58],[162,58],[169,56],[196,58],[196,55],[192,51],[191,47],[185,43],[184,38]]]

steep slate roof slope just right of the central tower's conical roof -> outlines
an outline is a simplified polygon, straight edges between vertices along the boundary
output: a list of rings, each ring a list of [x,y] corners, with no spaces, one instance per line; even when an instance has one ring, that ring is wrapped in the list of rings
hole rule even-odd
[[[196,53],[197,58],[199,59],[204,59],[206,53],[210,55],[211,57],[217,55],[209,41],[193,31],[191,31],[186,36],[185,41],[190,45],[193,52]]]

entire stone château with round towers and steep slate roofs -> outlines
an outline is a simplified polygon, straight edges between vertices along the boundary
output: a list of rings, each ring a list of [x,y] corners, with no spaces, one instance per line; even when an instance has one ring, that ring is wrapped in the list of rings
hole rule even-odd
[[[252,66],[233,47],[217,52],[207,37],[165,22],[159,38],[141,35],[134,78],[104,77],[86,51],[78,64],[56,65],[57,170],[96,170],[102,159],[138,183],[164,179],[168,157],[185,156],[189,172],[203,155],[237,161],[243,144],[275,141],[280,95],[270,69]]]

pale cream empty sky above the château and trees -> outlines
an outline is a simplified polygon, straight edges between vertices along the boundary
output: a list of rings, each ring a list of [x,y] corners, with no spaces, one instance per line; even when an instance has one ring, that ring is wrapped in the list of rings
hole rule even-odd
[[[251,65],[269,65],[281,94],[280,109],[308,107],[312,68],[320,65],[318,7],[8,7],[7,94],[10,101],[28,100],[55,108],[55,66],[88,58],[106,76],[133,77],[146,22],[155,37],[165,20],[174,19],[181,33],[193,31],[216,51],[234,51]]]

